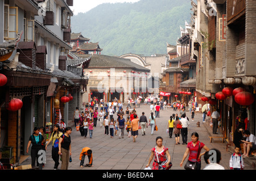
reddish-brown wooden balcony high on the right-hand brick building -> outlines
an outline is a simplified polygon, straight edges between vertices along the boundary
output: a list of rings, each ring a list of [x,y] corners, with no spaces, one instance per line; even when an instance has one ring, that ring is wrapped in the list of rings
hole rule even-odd
[[[236,2],[236,4],[234,4]],[[227,6],[227,20],[228,24],[234,22],[238,18],[240,18],[242,15],[245,15],[245,4],[246,0],[227,0],[226,6]]]

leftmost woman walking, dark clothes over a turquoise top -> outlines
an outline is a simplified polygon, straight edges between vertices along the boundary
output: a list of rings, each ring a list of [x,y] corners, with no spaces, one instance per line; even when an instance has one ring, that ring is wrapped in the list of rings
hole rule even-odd
[[[39,169],[42,170],[43,169],[43,163],[39,163],[38,162],[38,151],[42,150],[42,141],[44,140],[44,137],[42,136],[42,134],[39,134],[39,128],[35,127],[34,128],[34,132],[32,133],[32,135],[30,136],[30,139],[28,140],[28,144],[27,144],[27,153],[28,153],[28,149],[30,148],[30,145],[32,143],[31,146],[31,166],[35,167],[35,162],[36,166],[39,166]]]

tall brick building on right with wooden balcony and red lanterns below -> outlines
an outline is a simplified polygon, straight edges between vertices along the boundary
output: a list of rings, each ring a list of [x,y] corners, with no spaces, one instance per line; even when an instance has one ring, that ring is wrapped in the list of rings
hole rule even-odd
[[[196,91],[217,99],[220,133],[233,144],[234,132],[243,125],[255,134],[255,1],[197,1],[192,3],[192,56],[196,60]],[[202,23],[205,22],[205,23]],[[228,95],[238,87],[250,96]],[[225,96],[220,98],[218,92]],[[241,94],[240,94],[241,95]],[[247,98],[248,99],[248,98]],[[206,103],[206,102],[205,102]]]

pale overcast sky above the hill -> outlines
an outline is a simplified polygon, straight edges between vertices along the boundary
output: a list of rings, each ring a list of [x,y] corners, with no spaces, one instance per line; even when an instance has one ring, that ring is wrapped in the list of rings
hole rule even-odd
[[[73,6],[70,6],[74,14],[79,12],[87,12],[102,3],[116,3],[116,2],[138,2],[139,0],[75,0]]]

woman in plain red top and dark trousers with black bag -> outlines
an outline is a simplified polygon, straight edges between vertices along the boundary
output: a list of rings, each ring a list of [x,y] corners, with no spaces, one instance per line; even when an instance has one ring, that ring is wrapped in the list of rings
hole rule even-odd
[[[205,154],[201,153],[201,149],[204,149],[205,151],[209,151],[209,148],[207,146],[205,146],[205,144],[203,144],[203,142],[199,141],[199,134],[197,132],[193,132],[191,134],[191,142],[188,143],[187,145],[187,149],[183,155],[183,159],[180,162],[180,167],[183,166],[183,162],[184,160],[187,158],[188,156],[188,162],[189,163],[196,163],[196,170],[200,170],[201,169],[201,156]],[[199,147],[200,145],[200,147]]]

